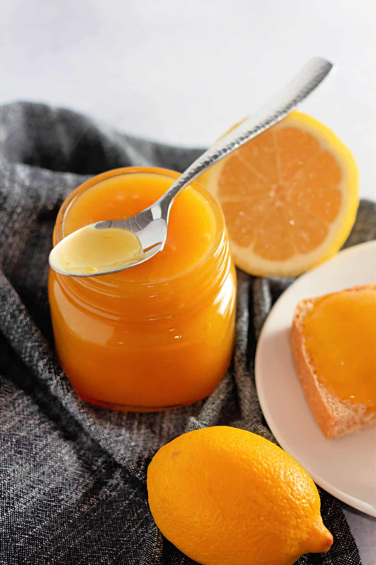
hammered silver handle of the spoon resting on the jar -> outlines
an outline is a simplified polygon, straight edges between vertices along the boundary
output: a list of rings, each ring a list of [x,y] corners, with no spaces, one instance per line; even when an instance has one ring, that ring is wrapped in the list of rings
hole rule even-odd
[[[180,190],[196,179],[207,168],[220,159],[232,153],[235,149],[256,137],[259,133],[270,128],[278,121],[285,118],[295,106],[315,90],[316,86],[325,79],[333,64],[321,57],[310,59],[300,72],[282,89],[270,102],[263,106],[256,114],[251,115],[243,123],[233,129],[227,136],[209,147],[190,167],[179,177],[169,190],[151,206],[154,216],[168,216],[174,198]],[[156,208],[154,208],[154,206]],[[154,210],[153,210],[154,208]],[[153,213],[154,212],[154,213]],[[159,212],[159,213],[158,213]],[[161,217],[160,216],[160,217]]]

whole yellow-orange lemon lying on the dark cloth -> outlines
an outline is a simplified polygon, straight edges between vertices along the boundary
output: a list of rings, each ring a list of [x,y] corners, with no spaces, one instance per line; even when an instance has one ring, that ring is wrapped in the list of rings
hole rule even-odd
[[[148,467],[163,535],[202,565],[292,565],[333,536],[306,471],[251,432],[215,426],[161,447]]]

